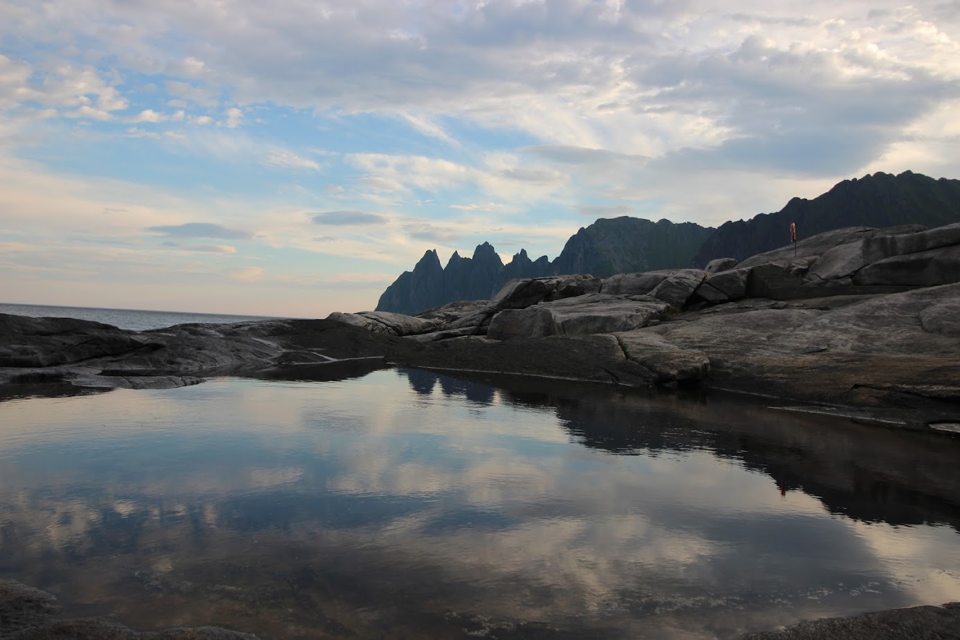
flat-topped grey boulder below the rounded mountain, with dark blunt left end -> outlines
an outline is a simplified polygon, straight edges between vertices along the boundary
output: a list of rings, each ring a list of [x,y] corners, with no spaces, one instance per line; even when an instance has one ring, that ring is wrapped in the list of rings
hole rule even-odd
[[[487,336],[510,340],[628,331],[660,319],[667,308],[647,296],[578,296],[526,309],[504,309],[493,317]]]

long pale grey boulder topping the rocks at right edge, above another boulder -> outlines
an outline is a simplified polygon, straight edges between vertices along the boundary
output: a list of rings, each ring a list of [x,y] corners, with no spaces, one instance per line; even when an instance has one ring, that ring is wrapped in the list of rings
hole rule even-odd
[[[899,230],[884,229],[885,231]],[[834,247],[810,268],[808,277],[832,280],[852,275],[885,258],[960,245],[960,224],[911,233],[886,233]],[[943,284],[943,283],[940,283]]]

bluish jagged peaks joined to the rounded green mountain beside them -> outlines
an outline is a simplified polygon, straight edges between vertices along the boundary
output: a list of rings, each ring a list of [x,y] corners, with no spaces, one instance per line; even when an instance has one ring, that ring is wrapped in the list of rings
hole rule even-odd
[[[413,272],[404,272],[380,296],[376,311],[416,314],[454,300],[487,299],[516,277],[560,273],[646,272],[685,267],[713,232],[693,223],[675,225],[640,218],[601,219],[581,228],[566,241],[551,264],[547,257],[531,260],[520,249],[504,265],[489,243],[478,245],[472,258],[454,252],[441,269],[436,250],[423,254]]]

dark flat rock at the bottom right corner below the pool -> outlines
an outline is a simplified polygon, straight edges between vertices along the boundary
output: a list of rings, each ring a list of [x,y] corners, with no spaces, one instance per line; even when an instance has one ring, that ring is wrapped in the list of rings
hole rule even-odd
[[[741,640],[947,640],[960,638],[960,603],[912,606],[851,618],[809,620],[779,631],[748,633]]]

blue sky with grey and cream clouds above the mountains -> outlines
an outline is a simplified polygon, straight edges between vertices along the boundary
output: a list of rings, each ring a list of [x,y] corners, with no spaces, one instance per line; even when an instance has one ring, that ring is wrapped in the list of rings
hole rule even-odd
[[[2,302],[324,318],[908,169],[960,178],[960,0],[0,0]]]

